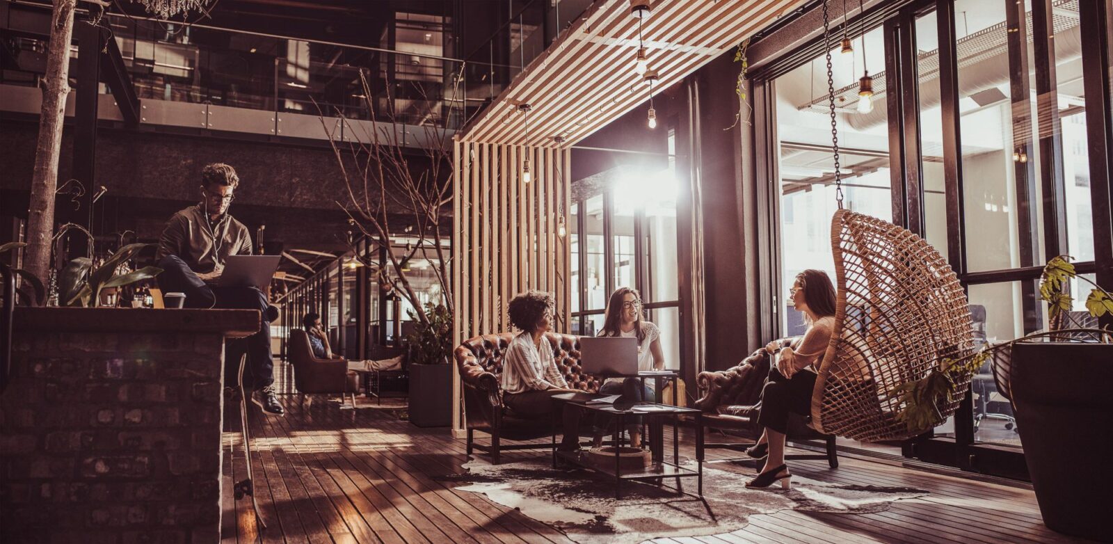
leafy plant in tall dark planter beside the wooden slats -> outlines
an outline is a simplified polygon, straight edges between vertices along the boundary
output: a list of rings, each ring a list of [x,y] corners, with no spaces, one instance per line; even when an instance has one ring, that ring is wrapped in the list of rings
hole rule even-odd
[[[410,422],[418,427],[452,424],[452,314],[443,305],[425,304],[427,322],[416,320],[406,336],[410,372]]]

